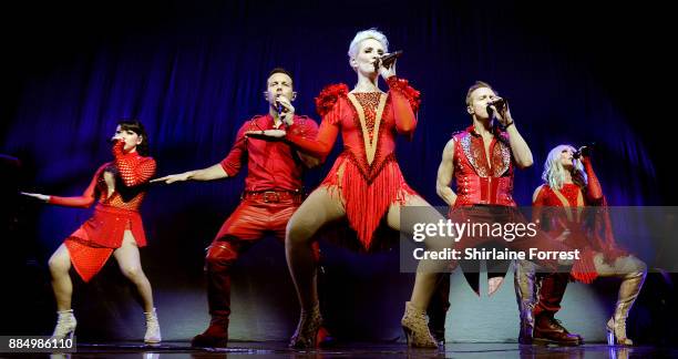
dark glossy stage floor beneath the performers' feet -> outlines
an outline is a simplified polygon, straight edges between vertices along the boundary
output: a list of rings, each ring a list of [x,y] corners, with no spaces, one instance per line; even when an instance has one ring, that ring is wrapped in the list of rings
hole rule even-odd
[[[286,342],[234,341],[224,349],[194,349],[186,341],[165,341],[156,347],[138,342],[79,343],[69,355],[0,353],[0,358],[678,358],[677,348],[639,346],[608,347],[590,343],[581,347],[521,346],[517,343],[450,342],[444,350],[408,350],[404,343],[355,342],[331,349],[291,350]]]

